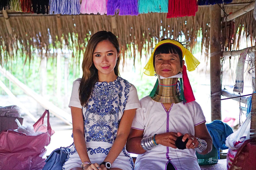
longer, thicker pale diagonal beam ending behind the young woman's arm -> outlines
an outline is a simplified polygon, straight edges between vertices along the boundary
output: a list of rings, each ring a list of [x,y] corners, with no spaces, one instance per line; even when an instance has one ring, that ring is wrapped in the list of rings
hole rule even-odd
[[[58,108],[42,96],[38,95],[36,92],[31,90],[28,86],[20,82],[16,77],[14,77],[11,73],[6,71],[4,68],[0,67],[0,73],[9,79],[11,82],[16,84],[22,91],[24,91],[27,95],[31,96],[34,100],[36,100],[43,108],[48,109],[53,115],[57,118],[65,122],[67,125],[72,126],[72,117],[70,114],[65,112],[64,110]]]

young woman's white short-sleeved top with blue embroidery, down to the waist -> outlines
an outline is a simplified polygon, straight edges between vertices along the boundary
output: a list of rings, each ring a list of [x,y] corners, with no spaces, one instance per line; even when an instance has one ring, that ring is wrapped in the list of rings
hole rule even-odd
[[[113,82],[96,82],[92,96],[83,108],[78,89],[81,79],[73,82],[69,107],[83,109],[85,141],[113,143],[125,110],[140,109],[137,90],[134,85],[121,77]]]

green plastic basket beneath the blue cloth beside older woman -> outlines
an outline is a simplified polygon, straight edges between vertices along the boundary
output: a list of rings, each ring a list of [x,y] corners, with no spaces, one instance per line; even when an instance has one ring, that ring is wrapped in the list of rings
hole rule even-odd
[[[212,151],[206,155],[201,155],[196,152],[196,157],[199,165],[212,165],[218,163],[218,150],[212,145]]]

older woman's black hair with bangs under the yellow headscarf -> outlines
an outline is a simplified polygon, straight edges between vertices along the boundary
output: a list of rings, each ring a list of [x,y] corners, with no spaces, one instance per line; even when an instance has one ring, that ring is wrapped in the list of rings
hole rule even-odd
[[[170,40],[170,39],[163,39],[163,40]],[[161,41],[163,41],[163,40],[161,40]],[[179,55],[180,66],[182,67],[182,60],[183,60],[183,58],[182,58],[182,51],[181,51],[181,49],[179,47],[177,47],[176,45],[171,44],[171,43],[165,43],[165,44],[159,45],[156,48],[156,50],[154,52],[154,56],[153,56],[153,65],[154,65],[154,67],[155,67],[155,57],[156,57],[156,55],[158,55],[158,54],[169,54],[169,53],[178,54]]]

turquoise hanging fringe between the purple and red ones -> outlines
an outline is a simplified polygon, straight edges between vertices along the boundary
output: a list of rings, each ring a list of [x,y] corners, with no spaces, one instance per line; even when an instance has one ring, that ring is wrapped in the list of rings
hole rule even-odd
[[[138,0],[139,13],[168,12],[168,0]]]

